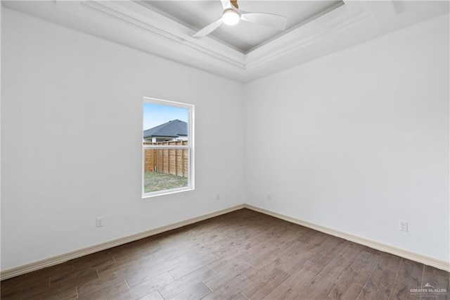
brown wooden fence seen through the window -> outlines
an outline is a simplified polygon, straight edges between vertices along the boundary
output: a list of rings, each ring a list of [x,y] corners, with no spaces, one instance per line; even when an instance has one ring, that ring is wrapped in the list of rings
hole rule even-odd
[[[144,145],[186,146],[188,141],[145,142]],[[188,149],[145,149],[144,170],[188,177]]]

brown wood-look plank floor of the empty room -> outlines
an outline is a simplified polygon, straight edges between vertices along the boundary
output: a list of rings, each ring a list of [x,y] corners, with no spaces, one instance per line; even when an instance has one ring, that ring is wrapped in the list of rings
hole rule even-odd
[[[450,291],[445,271],[242,209],[4,280],[1,299],[419,299],[427,283]]]

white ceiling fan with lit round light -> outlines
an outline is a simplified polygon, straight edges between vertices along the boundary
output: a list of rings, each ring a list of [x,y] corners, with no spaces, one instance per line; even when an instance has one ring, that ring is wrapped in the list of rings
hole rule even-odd
[[[283,15],[274,15],[273,13],[249,13],[241,11],[238,6],[238,0],[220,0],[224,9],[219,20],[207,25],[202,30],[198,31],[193,37],[204,37],[217,29],[222,24],[236,25],[240,20],[250,23],[257,23],[278,30],[285,30],[288,23],[288,18]]]

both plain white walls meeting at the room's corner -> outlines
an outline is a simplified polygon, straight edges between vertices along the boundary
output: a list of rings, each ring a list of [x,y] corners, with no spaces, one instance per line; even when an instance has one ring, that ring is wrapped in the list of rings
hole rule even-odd
[[[243,86],[1,14],[1,270],[243,202],[449,261],[448,16]],[[141,199],[143,96],[195,104],[195,191]]]

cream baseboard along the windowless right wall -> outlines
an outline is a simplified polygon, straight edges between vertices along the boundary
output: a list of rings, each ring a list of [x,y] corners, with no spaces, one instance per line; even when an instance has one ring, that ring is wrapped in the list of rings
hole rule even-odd
[[[418,254],[416,252],[412,252],[406,249],[401,249],[396,246],[383,244],[381,242],[373,241],[372,239],[366,239],[365,237],[359,237],[357,235],[352,235],[347,232],[342,232],[340,230],[335,230],[333,228],[324,227],[321,225],[317,225],[314,223],[309,223],[304,220],[299,220],[296,218],[289,217],[288,215],[282,215],[281,213],[276,213],[274,211],[269,211],[264,208],[259,208],[257,206],[252,206],[249,204],[245,204],[245,208],[251,209],[252,211],[257,211],[259,213],[264,213],[266,215],[271,215],[275,218],[288,221],[290,223],[295,223],[298,225],[302,225],[304,227],[308,227],[323,233],[326,233],[328,235],[333,235],[335,237],[340,237],[342,239],[347,239],[350,242],[355,242],[356,244],[361,244],[364,246],[371,247],[373,249],[377,249],[383,252],[387,252],[390,254],[394,254],[403,258],[410,259],[411,261],[417,261],[418,263],[423,263],[424,265],[430,265],[432,267],[446,270],[447,272],[450,272],[450,263],[448,261],[441,261],[437,258],[432,258],[430,256],[425,256],[423,254]]]

